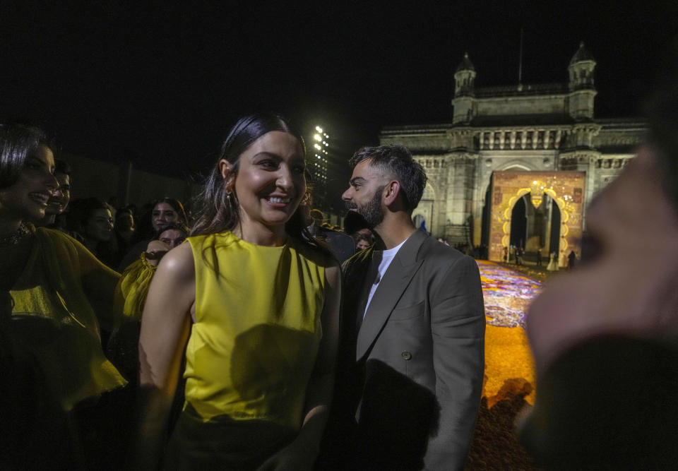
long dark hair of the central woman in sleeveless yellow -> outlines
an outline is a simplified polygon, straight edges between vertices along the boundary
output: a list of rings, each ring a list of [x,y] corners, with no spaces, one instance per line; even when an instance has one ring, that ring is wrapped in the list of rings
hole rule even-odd
[[[283,131],[295,136],[302,148],[302,153],[304,156],[306,155],[302,135],[278,114],[263,112],[239,119],[222,144],[217,162],[206,179],[201,193],[196,198],[194,206],[198,208],[198,212],[196,222],[191,229],[191,235],[214,234],[216,232],[232,230],[239,225],[238,196],[233,191],[227,197],[227,179],[222,177],[219,170],[219,162],[222,159],[227,160],[232,165],[232,173],[237,178],[240,155],[258,138],[271,131]],[[285,231],[300,242],[315,249],[320,249],[324,254],[328,254],[327,249],[321,246],[306,229],[303,206],[308,203],[310,203],[310,196],[307,186],[307,194],[304,195],[299,208],[297,208],[292,217],[290,217],[290,220],[285,224]]]

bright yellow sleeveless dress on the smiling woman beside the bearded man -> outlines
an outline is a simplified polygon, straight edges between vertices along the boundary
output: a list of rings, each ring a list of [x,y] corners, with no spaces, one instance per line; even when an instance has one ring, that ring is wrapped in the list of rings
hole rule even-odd
[[[322,336],[325,261],[292,238],[280,247],[232,232],[187,240],[196,319],[186,346],[186,403],[167,464],[246,469],[302,425]]]

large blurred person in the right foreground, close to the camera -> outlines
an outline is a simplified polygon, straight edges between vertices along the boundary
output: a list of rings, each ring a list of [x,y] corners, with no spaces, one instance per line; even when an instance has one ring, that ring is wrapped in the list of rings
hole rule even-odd
[[[677,78],[650,101],[648,143],[588,208],[581,263],[530,308],[537,399],[519,435],[540,467],[678,463]]]

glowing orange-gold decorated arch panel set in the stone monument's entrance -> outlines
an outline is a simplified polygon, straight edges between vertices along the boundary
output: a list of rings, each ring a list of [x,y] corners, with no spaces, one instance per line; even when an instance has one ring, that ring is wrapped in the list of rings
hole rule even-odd
[[[518,198],[531,193],[535,206],[549,195],[561,215],[559,264],[566,266],[567,254],[581,254],[583,195],[585,172],[516,172],[492,174],[492,205],[489,221],[489,259],[501,261],[509,246],[511,211]]]

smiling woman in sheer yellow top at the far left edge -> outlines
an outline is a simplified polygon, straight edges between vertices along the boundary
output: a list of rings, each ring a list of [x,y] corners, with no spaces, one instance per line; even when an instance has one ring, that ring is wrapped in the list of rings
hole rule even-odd
[[[105,425],[97,400],[126,383],[99,331],[116,323],[119,275],[63,232],[30,224],[57,188],[42,131],[0,124],[3,469],[96,466]]]

